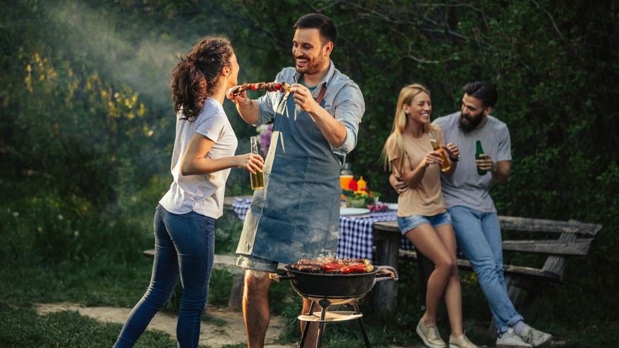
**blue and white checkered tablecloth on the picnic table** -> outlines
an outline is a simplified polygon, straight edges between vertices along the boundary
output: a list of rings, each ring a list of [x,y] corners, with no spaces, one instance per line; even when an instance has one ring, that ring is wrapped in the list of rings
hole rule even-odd
[[[245,214],[250,208],[251,198],[234,198],[232,208],[240,220],[245,219]],[[397,218],[396,211],[383,213],[369,213],[359,216],[340,215],[340,240],[338,240],[338,257],[340,259],[370,259],[372,260],[372,245],[374,244],[374,231],[372,225],[380,221],[394,221]],[[406,238],[400,241],[403,249],[413,249],[413,245]]]

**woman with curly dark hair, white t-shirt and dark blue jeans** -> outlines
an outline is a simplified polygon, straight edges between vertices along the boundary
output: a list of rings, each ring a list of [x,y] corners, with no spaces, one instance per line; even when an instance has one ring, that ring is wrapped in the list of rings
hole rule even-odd
[[[223,111],[225,91],[238,84],[239,65],[227,38],[206,37],[172,72],[176,137],[173,181],[155,211],[155,259],[143,298],[131,311],[114,347],[133,347],[152,317],[183,287],[178,347],[198,347],[201,316],[213,266],[214,222],[223,214],[230,168],[262,172],[263,160],[235,156],[238,141]]]

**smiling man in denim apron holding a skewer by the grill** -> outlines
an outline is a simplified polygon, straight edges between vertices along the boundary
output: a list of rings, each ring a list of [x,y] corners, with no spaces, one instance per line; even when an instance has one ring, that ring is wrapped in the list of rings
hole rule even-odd
[[[247,347],[263,347],[269,325],[269,273],[281,262],[335,257],[340,218],[340,168],[357,145],[365,111],[359,87],[330,60],[337,30],[330,18],[301,16],[293,27],[296,66],[276,82],[289,93],[269,92],[255,101],[228,94],[253,125],[273,121],[264,162],[264,189],[255,191],[237,253],[245,268],[243,315]],[[303,299],[303,312],[309,310]],[[306,347],[316,346],[317,325]]]

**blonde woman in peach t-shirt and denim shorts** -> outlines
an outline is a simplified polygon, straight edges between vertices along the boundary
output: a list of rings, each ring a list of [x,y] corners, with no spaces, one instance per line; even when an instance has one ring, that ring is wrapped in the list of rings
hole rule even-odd
[[[411,84],[400,91],[394,128],[384,146],[383,155],[395,176],[406,183],[398,197],[398,226],[434,264],[425,294],[426,310],[416,332],[430,348],[447,347],[436,327],[437,307],[445,293],[445,305],[450,318],[450,348],[473,348],[462,330],[462,298],[456,260],[456,239],[450,214],[440,190],[440,175],[451,176],[457,167],[458,147],[445,145],[440,128],[430,125],[432,101],[430,92],[420,84]],[[441,172],[443,159],[434,150],[430,139],[447,155],[449,169]]]

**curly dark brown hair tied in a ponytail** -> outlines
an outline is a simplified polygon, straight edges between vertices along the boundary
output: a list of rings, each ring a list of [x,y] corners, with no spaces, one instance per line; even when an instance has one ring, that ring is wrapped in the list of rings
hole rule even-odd
[[[230,66],[232,45],[224,36],[207,36],[196,44],[172,71],[172,100],[174,112],[182,111],[181,118],[193,121],[198,117],[204,99],[213,94],[223,67]]]

